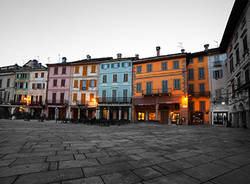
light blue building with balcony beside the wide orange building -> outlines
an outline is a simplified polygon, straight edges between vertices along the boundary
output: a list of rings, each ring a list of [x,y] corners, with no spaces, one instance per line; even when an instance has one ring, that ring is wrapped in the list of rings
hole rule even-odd
[[[100,118],[131,120],[132,61],[135,57],[109,60],[99,65]]]

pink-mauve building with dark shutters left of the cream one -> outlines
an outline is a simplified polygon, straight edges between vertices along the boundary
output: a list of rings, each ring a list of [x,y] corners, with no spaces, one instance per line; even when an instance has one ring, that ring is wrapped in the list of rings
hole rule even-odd
[[[69,96],[71,65],[62,58],[62,63],[47,64],[48,66],[48,88],[46,116],[49,119],[68,118],[70,114]]]

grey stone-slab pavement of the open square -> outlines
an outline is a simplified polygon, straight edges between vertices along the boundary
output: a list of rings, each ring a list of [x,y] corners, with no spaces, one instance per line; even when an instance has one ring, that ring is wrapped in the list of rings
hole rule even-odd
[[[250,130],[0,120],[1,184],[250,183]]]

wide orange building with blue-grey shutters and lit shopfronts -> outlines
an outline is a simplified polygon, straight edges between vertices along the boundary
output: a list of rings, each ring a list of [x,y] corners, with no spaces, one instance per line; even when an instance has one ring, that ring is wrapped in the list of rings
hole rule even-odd
[[[134,121],[187,124],[186,56],[178,53],[133,61]]]

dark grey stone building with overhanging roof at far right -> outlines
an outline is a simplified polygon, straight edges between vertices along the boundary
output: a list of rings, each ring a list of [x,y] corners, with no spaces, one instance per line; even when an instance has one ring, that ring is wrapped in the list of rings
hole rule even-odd
[[[227,54],[229,124],[250,128],[250,1],[236,0],[220,49]]]

